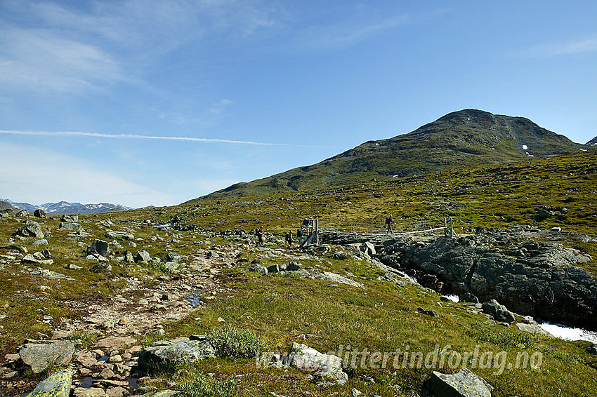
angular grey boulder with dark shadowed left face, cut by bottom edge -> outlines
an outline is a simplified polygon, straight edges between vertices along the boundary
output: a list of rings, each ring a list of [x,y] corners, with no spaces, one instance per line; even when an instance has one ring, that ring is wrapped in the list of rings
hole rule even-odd
[[[454,375],[433,371],[427,385],[438,397],[491,397],[494,389],[468,368],[462,368]]]

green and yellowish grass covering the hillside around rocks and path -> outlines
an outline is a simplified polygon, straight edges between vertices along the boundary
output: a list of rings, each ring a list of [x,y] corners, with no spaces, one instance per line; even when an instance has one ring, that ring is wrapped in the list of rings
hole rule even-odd
[[[297,229],[304,217],[320,217],[322,226],[338,220],[383,224],[383,219],[391,213],[399,223],[452,216],[459,234],[475,227],[505,228],[520,224],[562,227],[596,236],[595,160],[594,153],[525,159],[520,163],[421,177],[379,178],[309,191],[285,189],[267,196],[222,199],[219,205],[205,201],[109,215],[82,215],[81,224],[91,236],[81,241],[89,245],[93,238],[104,239],[106,229],[97,221],[110,218],[116,224],[112,229],[132,228],[135,236],[143,239],[136,241],[136,248],[121,242],[121,255],[125,250],[136,253],[143,249],[160,258],[169,251],[192,257],[197,250],[216,245],[242,251],[235,261],[244,262],[223,269],[224,292],[185,320],[164,323],[166,335],[161,337],[219,335],[221,356],[175,368],[169,375],[153,375],[146,384],[173,387],[173,376],[174,387],[188,396],[224,396],[233,389],[239,396],[271,396],[272,392],[292,396],[334,393],[349,396],[353,387],[367,395],[405,396],[411,389],[421,390],[431,368],[355,368],[350,371],[346,386],[322,388],[317,386],[316,380],[306,379],[305,374],[291,368],[256,368],[254,359],[247,356],[256,346],[268,346],[284,353],[289,351],[292,342],[306,343],[322,352],[337,352],[339,346],[346,349],[348,345],[353,349],[366,347],[369,351],[390,352],[408,346],[409,351],[430,352],[435,345],[450,344],[452,350],[461,354],[479,346],[481,351],[489,351],[493,356],[504,351],[509,359],[516,358],[520,351],[542,353],[543,363],[538,368],[515,368],[499,374],[494,368],[475,368],[475,373],[496,387],[495,396],[557,396],[558,393],[589,396],[597,389],[594,376],[597,360],[585,353],[586,342],[532,336],[516,328],[487,323],[485,317],[468,313],[463,304],[442,302],[440,307],[439,296],[431,292],[412,286],[397,288],[386,281],[377,281],[379,270],[365,261],[327,257],[335,248],[320,253],[322,261],[299,262],[303,268],[351,273],[365,289],[332,285],[329,281],[300,278],[296,274],[258,276],[247,270],[252,260],[259,257],[261,264],[268,266],[279,264],[280,259],[259,256],[261,253],[242,247],[242,241],[214,232],[235,228],[250,230],[264,224],[266,231],[281,235],[289,229]],[[566,206],[568,211],[559,219],[534,222],[532,215],[540,206]],[[180,220],[176,227],[184,231],[156,231],[143,224],[144,220]],[[48,248],[54,257],[54,264],[45,268],[75,281],[32,276],[18,260],[8,260],[1,266],[0,313],[7,317],[0,321],[4,327],[0,356],[14,353],[15,346],[25,338],[38,339],[63,321],[80,318],[82,314],[72,308],[72,302],[105,302],[108,297],[122,294],[126,279],[131,277],[139,278],[147,287],[155,287],[159,281],[145,280],[144,276],[157,278],[165,274],[166,269],[159,265],[116,262],[111,262],[110,273],[94,273],[91,271],[94,262],[85,260],[84,248],[70,240],[67,232],[56,230],[58,220],[41,222],[45,222],[42,227],[50,231]],[[11,233],[20,225],[18,220],[0,220],[0,245],[10,243]],[[30,253],[45,248],[32,247],[33,241],[34,238],[27,238],[15,243],[25,245]],[[566,244],[592,255],[593,260],[582,266],[597,274],[597,243],[583,242],[572,236]],[[283,245],[272,241],[265,246],[288,252]],[[0,254],[7,251],[0,250]],[[77,264],[81,269],[67,269],[68,264]],[[226,277],[232,274],[235,276]],[[41,290],[40,285],[49,289]],[[127,292],[125,297],[134,297],[136,293]],[[433,309],[440,317],[420,314],[418,307]],[[51,324],[41,321],[45,315],[53,316]],[[224,318],[225,323],[218,322],[218,317]],[[299,335],[314,336],[304,340]],[[90,335],[74,335],[73,338],[81,339],[84,346],[93,343]],[[143,344],[151,340],[148,337]],[[455,372],[446,368],[442,371]]]

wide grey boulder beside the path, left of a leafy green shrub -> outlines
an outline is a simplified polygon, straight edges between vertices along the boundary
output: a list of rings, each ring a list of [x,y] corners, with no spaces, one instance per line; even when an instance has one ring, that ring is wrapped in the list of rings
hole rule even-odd
[[[138,367],[146,372],[157,372],[176,365],[193,363],[215,354],[214,346],[205,340],[188,340],[174,344],[162,340],[141,351]]]

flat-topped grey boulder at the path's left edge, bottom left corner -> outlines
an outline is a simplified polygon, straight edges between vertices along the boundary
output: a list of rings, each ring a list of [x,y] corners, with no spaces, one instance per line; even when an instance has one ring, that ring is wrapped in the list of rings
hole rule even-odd
[[[29,365],[34,374],[39,374],[50,366],[60,366],[70,363],[74,353],[71,341],[33,344],[27,343],[19,350],[23,363]]]

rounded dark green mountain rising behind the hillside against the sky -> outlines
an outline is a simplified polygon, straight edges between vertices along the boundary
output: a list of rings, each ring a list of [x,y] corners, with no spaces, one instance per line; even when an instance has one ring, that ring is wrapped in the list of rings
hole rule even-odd
[[[412,133],[365,142],[313,166],[233,184],[197,201],[509,163],[534,156],[577,153],[583,147],[586,148],[523,117],[465,109],[442,116]]]

